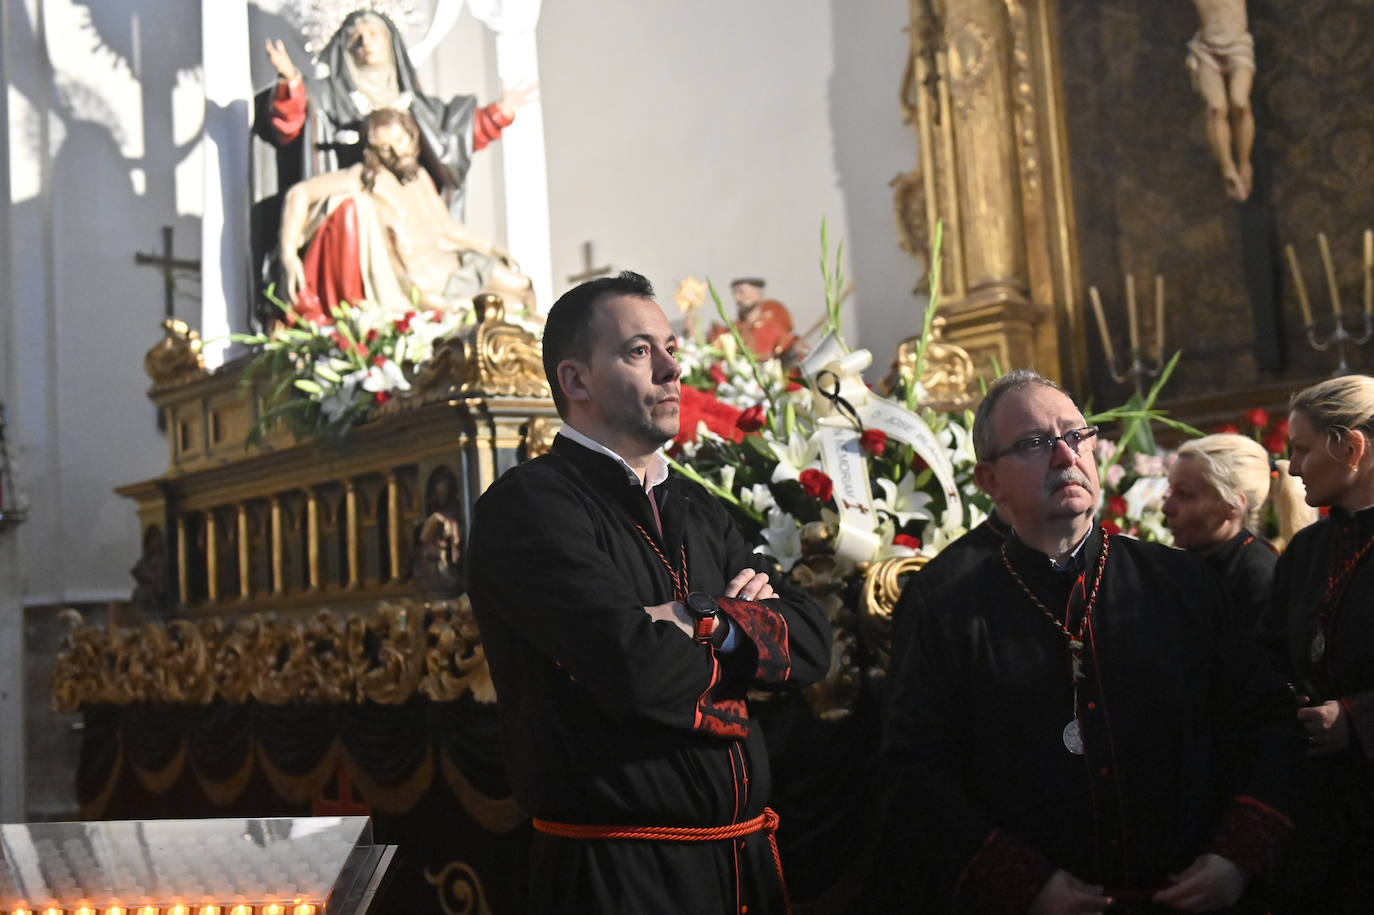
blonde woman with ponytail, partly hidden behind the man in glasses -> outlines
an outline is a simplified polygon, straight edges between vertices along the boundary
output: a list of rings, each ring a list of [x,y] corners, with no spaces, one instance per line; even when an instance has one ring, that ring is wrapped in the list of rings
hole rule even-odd
[[[1169,470],[1164,518],[1173,543],[1202,555],[1226,583],[1232,606],[1254,626],[1268,602],[1278,550],[1316,519],[1304,501],[1303,484],[1270,468],[1264,445],[1230,433],[1204,436],[1183,444]],[[1279,541],[1263,537],[1264,507],[1274,503]]]

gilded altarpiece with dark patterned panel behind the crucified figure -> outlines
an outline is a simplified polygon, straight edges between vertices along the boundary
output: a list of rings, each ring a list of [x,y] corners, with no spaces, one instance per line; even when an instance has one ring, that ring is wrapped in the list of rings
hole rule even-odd
[[[1123,401],[1085,291],[1102,291],[1118,361],[1125,275],[1153,342],[1165,283],[1164,392],[1182,418],[1278,407],[1330,374],[1307,342],[1283,246],[1301,260],[1316,327],[1330,301],[1327,234],[1347,327],[1359,328],[1360,239],[1374,224],[1374,4],[1248,4],[1257,73],[1256,190],[1226,196],[1205,107],[1184,66],[1197,8],[1176,0],[912,0],[904,107],[921,162],[897,181],[904,243],[945,224],[945,337],[985,368],[1033,364],[1099,405]],[[998,302],[989,308],[988,302]],[[1367,350],[1348,350],[1370,371]]]

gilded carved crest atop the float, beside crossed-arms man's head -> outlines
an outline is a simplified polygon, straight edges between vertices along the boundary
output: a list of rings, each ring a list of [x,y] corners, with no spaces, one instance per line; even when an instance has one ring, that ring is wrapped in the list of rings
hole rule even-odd
[[[434,348],[411,392],[392,401],[396,409],[471,394],[548,397],[539,338],[506,320],[500,295],[484,293],[473,305],[477,326]]]

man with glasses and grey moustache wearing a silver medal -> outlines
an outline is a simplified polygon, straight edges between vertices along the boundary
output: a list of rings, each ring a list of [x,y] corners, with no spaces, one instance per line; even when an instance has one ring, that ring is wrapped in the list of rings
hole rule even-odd
[[[894,841],[948,911],[1249,911],[1292,826],[1292,699],[1197,556],[1095,523],[1096,434],[1030,371],[978,408],[1011,533],[908,621]]]

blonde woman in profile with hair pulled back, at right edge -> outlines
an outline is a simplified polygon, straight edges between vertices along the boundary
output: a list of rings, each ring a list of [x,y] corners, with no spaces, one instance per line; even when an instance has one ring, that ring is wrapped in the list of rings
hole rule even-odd
[[[1260,642],[1300,694],[1311,812],[1285,875],[1293,912],[1367,912],[1374,900],[1374,378],[1293,398],[1292,466],[1330,515],[1294,534]]]

